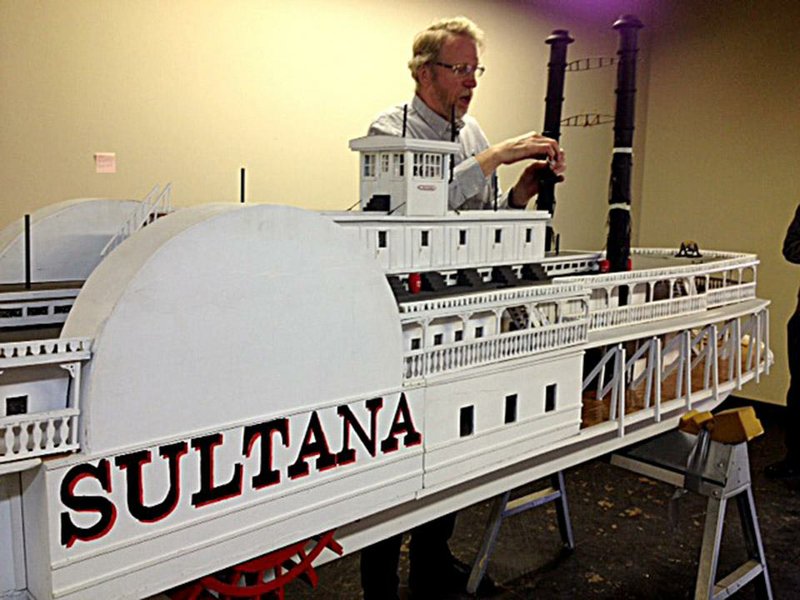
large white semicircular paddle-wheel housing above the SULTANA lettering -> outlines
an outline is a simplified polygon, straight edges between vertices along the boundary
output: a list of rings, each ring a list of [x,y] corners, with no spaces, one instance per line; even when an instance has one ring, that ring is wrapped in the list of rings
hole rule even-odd
[[[159,219],[92,273],[64,326],[94,339],[84,448],[397,389],[396,315],[381,270],[324,217],[212,205]]]

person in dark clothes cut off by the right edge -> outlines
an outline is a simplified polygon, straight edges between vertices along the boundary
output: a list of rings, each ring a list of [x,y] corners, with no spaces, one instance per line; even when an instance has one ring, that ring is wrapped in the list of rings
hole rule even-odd
[[[800,264],[800,206],[789,224],[783,240],[783,257],[791,263]],[[786,347],[789,358],[789,391],[786,393],[786,433],[784,445],[786,456],[766,469],[771,479],[800,477],[800,291],[794,314],[786,326]]]

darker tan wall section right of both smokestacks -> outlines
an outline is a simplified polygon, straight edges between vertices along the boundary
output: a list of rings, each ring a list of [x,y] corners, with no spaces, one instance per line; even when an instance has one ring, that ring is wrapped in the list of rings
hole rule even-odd
[[[743,395],[783,404],[785,326],[800,283],[781,255],[800,201],[800,4],[674,4],[651,37],[638,242],[758,254],[776,362]]]

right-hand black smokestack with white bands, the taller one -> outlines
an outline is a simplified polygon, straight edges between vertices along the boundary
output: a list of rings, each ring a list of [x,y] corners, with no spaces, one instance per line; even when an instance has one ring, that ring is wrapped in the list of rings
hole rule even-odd
[[[636,38],[643,27],[632,15],[624,15],[614,23],[619,31],[617,63],[617,106],[614,117],[614,155],[611,160],[611,185],[608,199],[608,239],[606,258],[612,272],[627,271],[631,256],[631,164],[633,157],[633,123],[636,102]],[[620,304],[627,298],[622,297]]]

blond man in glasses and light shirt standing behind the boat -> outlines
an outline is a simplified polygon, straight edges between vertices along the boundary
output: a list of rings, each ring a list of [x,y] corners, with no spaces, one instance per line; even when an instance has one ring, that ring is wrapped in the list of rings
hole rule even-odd
[[[492,208],[496,193],[492,182],[497,167],[530,161],[498,203],[501,208],[525,208],[548,169],[563,179],[564,152],[558,142],[536,133],[489,144],[478,122],[467,115],[478,77],[484,71],[478,60],[482,45],[483,32],[465,17],[437,21],[417,34],[408,63],[417,83],[414,99],[407,107],[397,106],[381,114],[370,125],[369,135],[455,139],[460,148],[448,196],[454,210]],[[447,543],[454,526],[455,513],[412,531],[409,585],[414,600],[441,600],[448,593],[465,590],[469,567],[453,557]],[[401,540],[402,535],[397,535],[362,550],[364,600],[398,598]],[[487,595],[493,587],[484,578],[478,593]]]

